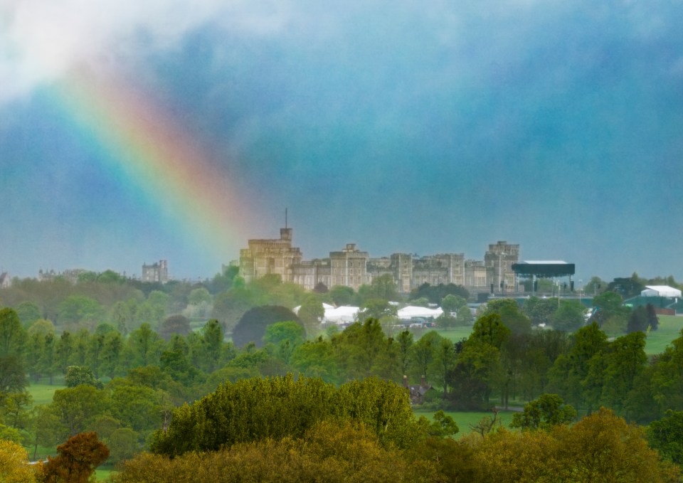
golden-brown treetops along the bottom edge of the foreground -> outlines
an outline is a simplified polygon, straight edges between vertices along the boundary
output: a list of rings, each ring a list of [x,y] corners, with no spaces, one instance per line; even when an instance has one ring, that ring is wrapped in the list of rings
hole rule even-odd
[[[576,425],[499,429],[480,437],[417,439],[384,447],[372,430],[320,422],[302,437],[265,437],[173,459],[143,453],[120,467],[115,483],[199,482],[605,482],[674,483],[677,467],[647,447],[642,430],[601,409]]]

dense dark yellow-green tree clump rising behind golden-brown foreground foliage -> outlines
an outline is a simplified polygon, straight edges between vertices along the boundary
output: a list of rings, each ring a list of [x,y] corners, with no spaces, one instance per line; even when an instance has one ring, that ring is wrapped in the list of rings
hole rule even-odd
[[[394,383],[368,378],[335,388],[322,379],[288,375],[226,382],[177,408],[168,430],[154,433],[151,449],[176,456],[268,437],[302,437],[322,420],[362,423],[382,445],[397,447],[406,447],[418,432],[408,393]]]

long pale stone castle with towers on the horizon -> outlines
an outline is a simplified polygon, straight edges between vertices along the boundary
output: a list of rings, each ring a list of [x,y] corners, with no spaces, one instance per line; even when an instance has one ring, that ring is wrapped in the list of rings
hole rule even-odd
[[[371,258],[355,243],[330,252],[328,258],[303,260],[301,250],[292,246],[292,228],[280,228],[275,240],[249,240],[249,248],[240,250],[240,276],[246,282],[264,275],[280,275],[283,282],[313,290],[319,285],[331,288],[344,285],[358,290],[375,277],[391,275],[399,292],[429,285],[462,285],[471,293],[514,292],[512,264],[519,261],[519,245],[499,241],[489,245],[484,260],[465,260],[462,253],[443,253],[418,257],[393,253]]]

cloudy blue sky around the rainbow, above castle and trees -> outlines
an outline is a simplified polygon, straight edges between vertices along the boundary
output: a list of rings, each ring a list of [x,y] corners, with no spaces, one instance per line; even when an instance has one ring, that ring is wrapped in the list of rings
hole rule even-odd
[[[482,260],[507,240],[522,260],[576,263],[577,280],[683,280],[682,11],[0,0],[0,266],[139,275],[166,259],[176,277],[211,277],[248,238],[277,238],[287,207],[306,259],[354,242]],[[120,153],[60,94],[75,77],[171,117],[238,196],[225,223],[247,222],[214,242],[202,213],[169,216],[112,176]]]

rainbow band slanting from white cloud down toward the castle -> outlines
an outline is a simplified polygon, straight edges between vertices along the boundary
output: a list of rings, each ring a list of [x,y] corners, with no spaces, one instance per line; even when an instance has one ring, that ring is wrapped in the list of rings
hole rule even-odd
[[[174,233],[205,255],[234,257],[247,238],[245,198],[152,96],[120,79],[78,72],[60,83],[58,104],[102,154],[108,174],[142,198],[141,208],[175,225]]]

